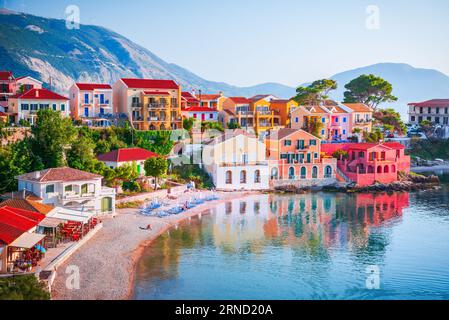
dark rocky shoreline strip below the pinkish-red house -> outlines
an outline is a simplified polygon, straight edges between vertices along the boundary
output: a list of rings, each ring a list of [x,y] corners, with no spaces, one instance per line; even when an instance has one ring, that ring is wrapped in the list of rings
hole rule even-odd
[[[375,183],[370,186],[359,187],[354,183],[343,184],[335,183],[333,185],[321,187],[295,187],[283,186],[275,188],[276,193],[308,193],[308,192],[343,192],[343,193],[358,193],[358,192],[394,192],[394,191],[420,191],[431,190],[440,187],[440,180],[437,176],[422,176],[418,174],[402,175],[399,181],[382,184]]]

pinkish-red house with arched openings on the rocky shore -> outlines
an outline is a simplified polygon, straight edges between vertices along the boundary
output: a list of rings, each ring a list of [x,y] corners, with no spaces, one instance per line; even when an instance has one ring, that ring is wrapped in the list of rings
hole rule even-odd
[[[348,153],[347,158],[338,159],[338,174],[358,186],[375,182],[392,183],[398,180],[398,172],[410,172],[410,157],[405,147],[397,142],[385,143],[338,143],[324,144],[321,151],[332,155],[337,150]]]

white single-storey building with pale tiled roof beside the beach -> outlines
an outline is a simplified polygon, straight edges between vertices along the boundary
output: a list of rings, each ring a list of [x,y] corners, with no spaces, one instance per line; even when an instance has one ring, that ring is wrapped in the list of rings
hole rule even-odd
[[[102,176],[68,167],[51,168],[16,177],[26,190],[52,204],[96,214],[115,213],[115,190],[101,185]]]

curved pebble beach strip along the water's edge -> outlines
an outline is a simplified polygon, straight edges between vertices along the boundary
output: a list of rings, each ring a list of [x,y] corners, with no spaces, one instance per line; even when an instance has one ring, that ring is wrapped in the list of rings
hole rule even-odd
[[[115,218],[103,220],[103,228],[58,268],[52,288],[53,299],[119,300],[131,297],[135,265],[145,246],[176,223],[249,193],[216,194],[220,200],[162,219],[142,216],[138,209],[117,210]],[[148,224],[151,224],[151,231],[139,228]],[[79,289],[66,286],[67,279],[70,280],[70,274],[66,274],[68,266],[79,268]]]

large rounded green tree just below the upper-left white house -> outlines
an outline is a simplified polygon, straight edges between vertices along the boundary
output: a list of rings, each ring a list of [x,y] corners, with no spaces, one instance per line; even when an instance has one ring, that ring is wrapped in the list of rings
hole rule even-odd
[[[50,109],[37,112],[36,124],[31,127],[31,148],[44,168],[62,167],[66,164],[64,151],[75,138],[76,129],[69,118]]]

